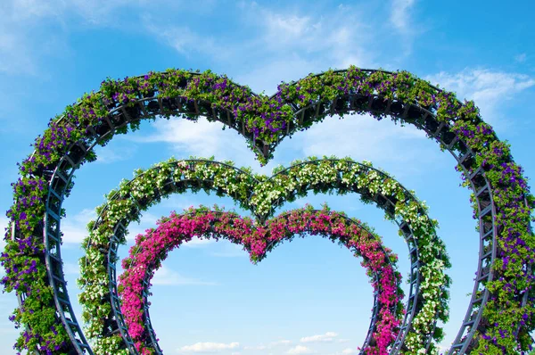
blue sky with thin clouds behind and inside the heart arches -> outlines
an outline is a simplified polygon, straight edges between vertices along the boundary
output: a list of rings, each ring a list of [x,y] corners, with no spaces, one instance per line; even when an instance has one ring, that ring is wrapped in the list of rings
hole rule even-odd
[[[284,80],[329,68],[409,70],[473,99],[484,120],[512,144],[515,161],[535,176],[535,4],[492,1],[38,1],[0,4],[0,210],[12,203],[16,162],[31,153],[48,120],[104,78],[168,68],[213,70],[257,92],[273,94]],[[325,122],[286,139],[260,168],[241,136],[200,119],[145,122],[97,150],[99,160],[78,170],[64,202],[64,270],[77,301],[79,242],[103,194],[136,168],[174,155],[215,155],[270,175],[278,164],[306,156],[350,155],[373,161],[430,206],[440,222],[453,268],[448,346],[465,316],[477,268],[477,233],[449,153],[416,128],[367,116]],[[532,185],[532,182],[531,182]],[[383,235],[408,273],[407,246],[397,228],[356,195],[310,195],[288,203],[328,202]],[[130,237],[170,211],[234,203],[215,195],[182,194],[144,213]],[[7,221],[0,217],[0,225]],[[2,228],[3,229],[3,228]],[[127,255],[132,244],[119,249]],[[2,244],[3,247],[4,244]],[[152,324],[166,353],[351,354],[362,344],[372,287],[359,260],[319,237],[283,244],[258,266],[226,241],[185,245],[169,254],[153,280]],[[406,285],[404,287],[407,290]],[[0,353],[13,353],[17,331],[7,320],[14,294],[0,294]],[[76,303],[78,319],[80,308]]]

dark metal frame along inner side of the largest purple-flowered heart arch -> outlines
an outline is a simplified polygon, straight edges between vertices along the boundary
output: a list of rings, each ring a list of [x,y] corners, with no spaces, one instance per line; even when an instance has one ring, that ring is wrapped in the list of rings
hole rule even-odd
[[[346,72],[347,70],[338,70],[338,73]],[[381,71],[387,74],[391,72],[383,70],[362,70],[368,73]],[[192,73],[197,75],[198,73]],[[318,74],[321,76],[324,74]],[[235,84],[232,84],[235,85]],[[440,91],[439,88],[433,87],[435,90]],[[54,219],[50,217],[48,211],[50,210],[50,201],[51,196],[54,196],[53,192],[57,193],[60,196],[59,207],[61,209],[62,200],[64,198],[63,189],[55,189],[53,184],[58,181],[63,181],[67,186],[70,185],[70,180],[72,178],[72,173],[74,170],[78,169],[78,166],[81,161],[83,161],[86,153],[93,149],[95,144],[102,142],[103,140],[111,137],[114,131],[118,128],[122,128],[127,125],[129,122],[140,120],[142,118],[151,118],[156,115],[189,115],[191,116],[206,116],[210,120],[218,120],[224,125],[230,128],[234,128],[240,134],[249,139],[254,149],[262,154],[265,157],[268,157],[276,148],[276,145],[284,138],[284,136],[290,136],[297,130],[297,125],[293,122],[290,122],[286,125],[286,132],[281,132],[278,140],[274,144],[265,144],[259,139],[256,139],[255,136],[252,136],[249,132],[245,130],[245,125],[243,122],[238,122],[235,120],[233,113],[226,109],[221,108],[212,108],[210,103],[206,103],[200,100],[190,100],[185,99],[163,99],[161,97],[156,97],[157,94],[154,92],[152,97],[140,98],[133,105],[119,105],[119,107],[112,107],[109,115],[104,118],[103,122],[95,125],[95,127],[87,128],[90,132],[90,136],[93,137],[94,143],[86,146],[83,141],[79,141],[75,144],[71,144],[67,149],[67,153],[62,157],[61,161],[58,163],[56,168],[53,171],[45,171],[43,173],[44,177],[49,178],[49,194],[46,202],[46,217],[45,226],[44,226],[44,242],[45,242],[45,254],[48,253],[49,243],[54,243],[54,241],[49,241],[49,234],[46,233],[47,223],[51,220],[55,220],[58,223],[60,219]],[[273,96],[272,96],[273,97]],[[349,95],[340,95],[332,101],[322,101],[318,103],[312,103],[307,107],[299,108],[296,105],[291,105],[292,110],[294,111],[295,116],[302,123],[305,120],[317,120],[326,115],[333,115],[338,113],[345,113],[350,111],[358,112],[374,112],[384,115],[390,115],[395,119],[402,120],[403,122],[413,123],[416,127],[424,129],[425,132],[432,138],[435,138],[441,146],[446,148],[457,160],[461,168],[463,169],[465,176],[468,177],[473,193],[476,196],[478,203],[478,212],[480,220],[480,252],[479,252],[479,264],[477,277],[474,284],[474,293],[470,301],[470,305],[466,312],[465,321],[457,334],[456,341],[453,343],[452,348],[449,351],[449,355],[452,354],[465,354],[470,352],[473,349],[475,343],[473,343],[473,334],[480,324],[482,310],[489,298],[489,292],[484,286],[486,282],[493,280],[493,271],[491,266],[494,265],[497,252],[497,237],[499,231],[497,230],[494,218],[496,216],[496,207],[494,206],[492,191],[490,189],[490,184],[485,177],[485,172],[481,169],[476,171],[471,171],[473,161],[475,160],[475,153],[468,148],[467,144],[463,142],[460,136],[457,136],[454,132],[450,130],[450,127],[454,123],[455,119],[449,120],[449,122],[439,122],[436,120],[434,115],[433,107],[421,107],[415,103],[403,103],[399,100],[385,99],[380,95],[359,95],[355,90],[351,91]],[[328,110],[326,110],[328,109]],[[60,121],[64,126],[73,127],[74,125],[70,123],[63,116]],[[55,197],[55,196],[54,196]],[[491,219],[491,224],[488,226],[485,222],[486,218]],[[59,232],[58,232],[59,235]],[[56,235],[56,236],[58,236]],[[16,231],[12,233],[12,239],[17,239]],[[53,237],[51,237],[53,239]],[[59,239],[59,238],[58,238]],[[60,245],[55,244],[57,248],[57,255],[60,255]],[[489,246],[489,249],[485,249],[486,246]],[[490,250],[490,253],[484,253],[485,250]],[[70,318],[70,323],[67,321],[65,312],[70,313],[71,306],[69,301],[69,296],[67,290],[64,289],[64,293],[60,290],[64,285],[62,282],[62,267],[58,265],[53,258],[46,257],[46,268],[47,274],[49,277],[50,285],[53,287],[54,291],[54,301],[56,303],[56,308],[62,318],[63,326],[67,330],[67,333],[70,336],[70,340],[73,343],[73,350],[76,350],[78,354],[90,353],[92,354],[91,349],[89,348],[86,340],[81,332],[78,322],[74,317],[74,314],[71,313],[72,318]],[[483,263],[489,264],[490,268],[487,269],[483,266]],[[53,268],[59,269],[59,278],[53,277]],[[476,297],[476,290],[482,285],[483,293]],[[61,295],[64,296],[64,302],[60,301]],[[17,293],[19,302],[21,303],[25,297],[25,294]],[[521,305],[525,305],[527,302],[527,297],[523,297]],[[61,306],[65,306],[67,310],[64,310]],[[472,317],[473,313],[475,318]],[[464,337],[463,334],[466,334]],[[77,338],[79,336],[79,339]],[[75,345],[78,344],[78,345]]]

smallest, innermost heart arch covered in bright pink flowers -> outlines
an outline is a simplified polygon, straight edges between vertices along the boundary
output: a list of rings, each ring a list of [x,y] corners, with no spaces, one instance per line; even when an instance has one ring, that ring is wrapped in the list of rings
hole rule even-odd
[[[401,304],[403,293],[399,287],[401,277],[394,268],[397,256],[384,248],[380,237],[363,228],[358,220],[328,211],[326,206],[322,211],[314,211],[308,206],[286,212],[263,225],[232,212],[217,208],[210,211],[201,207],[182,215],[173,212],[169,218],[161,219],[155,229],[137,235],[129,257],[122,261],[124,273],[119,277],[121,311],[136,350],[142,355],[154,354],[144,322],[144,303],[147,300],[142,294],[148,293],[144,282],[147,288],[150,287],[154,270],[160,268],[168,253],[180,244],[187,243],[193,236],[216,240],[225,238],[243,245],[251,253],[251,260],[257,262],[265,257],[268,243],[292,240],[294,235],[304,236],[306,232],[323,235],[333,242],[338,240],[355,256],[363,258],[362,266],[370,277],[373,276],[371,283],[377,293],[379,310],[371,337],[374,345],[366,345],[364,353],[387,353],[399,332],[400,318],[404,313]]]

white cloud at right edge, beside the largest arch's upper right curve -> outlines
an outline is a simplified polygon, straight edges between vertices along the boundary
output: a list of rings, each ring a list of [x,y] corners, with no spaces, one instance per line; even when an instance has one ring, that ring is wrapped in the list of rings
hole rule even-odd
[[[457,93],[461,101],[473,100],[480,108],[483,120],[493,125],[504,124],[503,119],[499,117],[500,103],[535,86],[535,79],[527,75],[486,69],[465,69],[457,73],[441,71],[425,79]]]

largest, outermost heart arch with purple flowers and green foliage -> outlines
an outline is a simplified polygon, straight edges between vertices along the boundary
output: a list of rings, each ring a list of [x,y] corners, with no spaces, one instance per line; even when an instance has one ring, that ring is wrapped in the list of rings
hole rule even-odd
[[[67,294],[59,224],[72,174],[81,163],[95,160],[95,144],[106,144],[128,127],[136,129],[143,119],[203,115],[236,129],[259,161],[266,162],[284,136],[309,128],[326,115],[350,111],[368,112],[378,120],[390,116],[424,129],[452,153],[465,186],[473,190],[479,266],[472,299],[450,353],[526,350],[535,327],[535,238],[530,226],[534,199],[508,144],[500,142],[481,120],[473,102],[460,103],[454,94],[406,71],[356,67],[283,84],[271,97],[254,95],[248,87],[210,71],[168,70],[108,79],[100,91],[85,95],[51,120],[13,184],[15,201],[8,211],[11,232],[1,257],[6,269],[4,289],[16,290],[21,303],[12,318],[26,326],[18,347],[60,351],[68,342],[78,352],[89,349],[73,321],[68,297],[63,301],[57,297]],[[56,257],[45,252],[51,249]],[[54,304],[57,313],[51,308]]]

